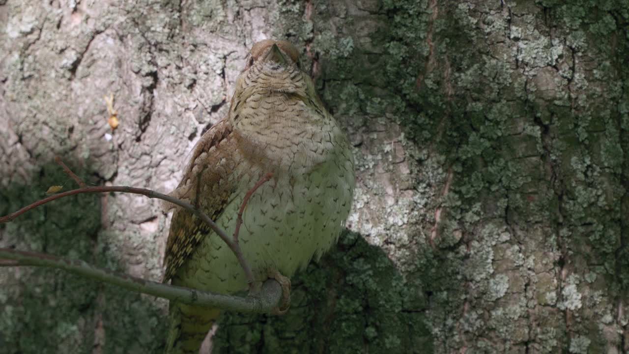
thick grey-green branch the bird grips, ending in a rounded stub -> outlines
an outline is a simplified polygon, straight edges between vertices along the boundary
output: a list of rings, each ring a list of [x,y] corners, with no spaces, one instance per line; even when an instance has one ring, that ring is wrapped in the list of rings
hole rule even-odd
[[[64,258],[50,256],[50,254],[45,253],[0,248],[0,258],[12,260],[14,263],[17,263],[15,265],[58,268],[97,281],[118,285],[127,290],[162,297],[184,304],[220,307],[229,311],[269,313],[277,307],[282,296],[282,288],[276,280],[264,282],[262,292],[255,297],[238,297],[176,287],[131,277],[126,274],[116,274],[113,271],[92,266],[85,261],[65,260]]]

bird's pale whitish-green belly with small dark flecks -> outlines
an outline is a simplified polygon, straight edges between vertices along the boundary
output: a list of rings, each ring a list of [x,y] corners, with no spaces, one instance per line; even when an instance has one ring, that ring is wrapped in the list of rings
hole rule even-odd
[[[257,280],[265,280],[269,269],[291,277],[337,241],[350,212],[354,173],[352,157],[344,155],[349,151],[332,154],[309,173],[267,181],[247,203],[239,239]],[[248,171],[242,183],[253,186],[264,174]],[[216,220],[230,236],[246,193],[242,188]],[[213,232],[182,268],[181,285],[223,294],[247,289],[237,259]]]

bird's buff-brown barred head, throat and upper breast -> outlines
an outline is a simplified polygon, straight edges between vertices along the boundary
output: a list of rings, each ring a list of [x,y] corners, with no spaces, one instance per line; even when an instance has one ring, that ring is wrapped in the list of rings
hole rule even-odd
[[[332,149],[330,137],[337,132],[298,62],[299,52],[289,42],[255,43],[238,76],[228,119],[240,151],[252,161],[301,176],[323,159],[316,144]]]

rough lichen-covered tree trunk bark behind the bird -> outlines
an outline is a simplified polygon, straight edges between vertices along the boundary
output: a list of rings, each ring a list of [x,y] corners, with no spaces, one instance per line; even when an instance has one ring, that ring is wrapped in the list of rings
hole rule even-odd
[[[224,316],[214,352],[629,351],[626,1],[264,3],[0,0],[0,214],[74,188],[55,154],[169,191],[247,48],[287,38],[355,147],[350,232],[289,314]],[[82,195],[0,245],[158,279],[168,223]],[[45,269],[0,284],[1,353],[163,349],[164,301]]]

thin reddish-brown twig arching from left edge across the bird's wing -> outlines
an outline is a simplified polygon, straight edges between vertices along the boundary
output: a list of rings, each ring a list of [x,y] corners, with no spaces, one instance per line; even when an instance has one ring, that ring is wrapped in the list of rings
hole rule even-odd
[[[32,203],[31,205],[27,205],[26,207],[23,207],[16,212],[0,217],[0,224],[2,224],[3,222],[9,222],[15,219],[16,217],[18,217],[19,215],[22,215],[25,212],[28,212],[28,210],[39,207],[40,205],[43,205],[45,203],[52,202],[53,200],[57,200],[59,198],[69,197],[70,195],[82,194],[82,193],[108,193],[108,192],[113,192],[113,191],[118,191],[118,192],[123,192],[123,193],[141,194],[141,195],[145,195],[148,198],[158,198],[158,199],[162,199],[167,202],[173,203],[175,205],[179,205],[180,207],[186,210],[189,210],[190,212],[192,212],[192,214],[196,215],[197,217],[199,217],[199,219],[203,220],[203,222],[208,224],[209,227],[214,232],[216,232],[216,234],[219,237],[221,237],[223,242],[227,244],[227,246],[231,249],[231,251],[235,254],[236,258],[238,259],[240,266],[245,272],[245,277],[247,278],[247,282],[248,283],[254,282],[255,279],[253,278],[251,267],[247,263],[247,260],[245,260],[245,256],[243,256],[242,250],[240,249],[240,246],[238,245],[238,243],[233,242],[231,240],[231,237],[227,236],[227,234],[225,233],[225,231],[223,231],[223,229],[218,227],[218,225],[216,225],[216,223],[214,223],[212,219],[209,219],[208,215],[204,214],[204,212],[202,212],[199,208],[194,207],[190,203],[186,203],[175,197],[171,197],[170,195],[157,193],[157,191],[147,190],[144,188],[134,188],[130,186],[94,186],[94,187],[86,187],[86,188],[78,188],[75,190],[69,190],[63,193],[51,195],[50,197],[47,197],[47,198],[43,198],[42,200],[38,200],[37,202]]]

